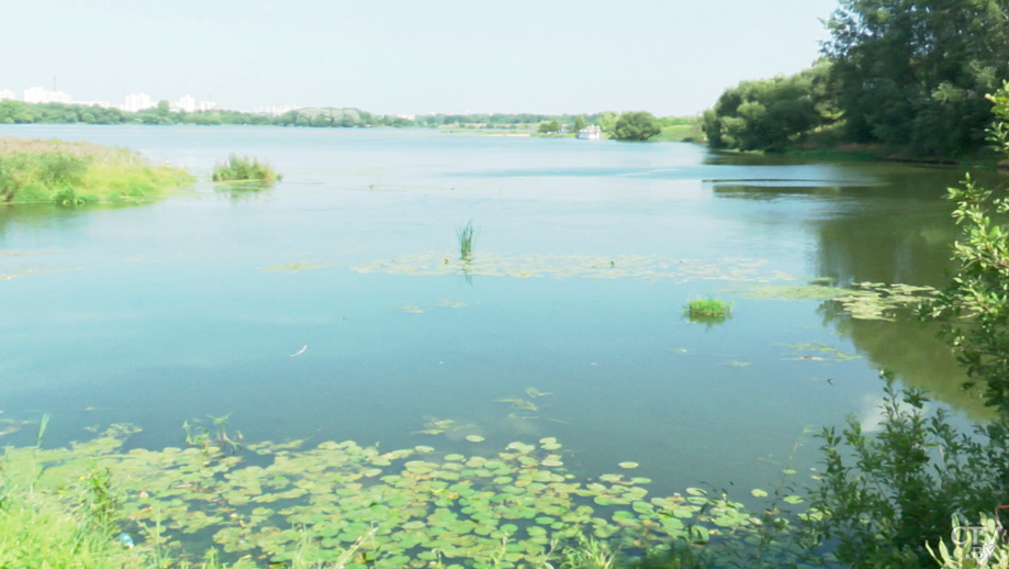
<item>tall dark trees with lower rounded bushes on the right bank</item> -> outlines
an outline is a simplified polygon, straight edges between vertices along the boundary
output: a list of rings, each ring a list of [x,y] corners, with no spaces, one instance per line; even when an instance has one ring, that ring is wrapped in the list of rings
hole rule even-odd
[[[714,147],[777,150],[807,142],[882,144],[957,156],[985,144],[1009,79],[1005,0],[840,0],[825,59],[743,81],[704,118]]]

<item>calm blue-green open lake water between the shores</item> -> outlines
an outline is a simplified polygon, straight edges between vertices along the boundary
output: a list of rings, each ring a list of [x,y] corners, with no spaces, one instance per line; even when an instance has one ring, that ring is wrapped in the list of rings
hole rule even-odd
[[[147,205],[0,209],[0,253],[32,253],[0,256],[16,277],[0,281],[0,409],[49,413],[47,444],[130,422],[144,428],[133,445],[179,446],[183,421],[208,414],[231,414],[247,440],[468,455],[553,436],[583,477],[636,461],[655,495],[707,483],[742,498],[783,468],[816,468],[822,425],[871,416],[881,366],[980,409],[931,328],[747,293],[783,276],[942,284],[954,235],[942,196],[958,171],[416,131],[0,135],[128,146],[203,180],[231,152],[284,175],[253,194],[203,181]],[[455,271],[469,220],[473,263],[512,276]],[[411,274],[422,258],[431,270]],[[424,274],[442,258],[450,274]],[[572,268],[585,259],[602,278]],[[317,268],[264,270],[292,263]],[[707,294],[733,317],[685,320]],[[862,357],[796,359],[822,355],[795,347],[808,343]],[[460,428],[418,434],[431,420]]]

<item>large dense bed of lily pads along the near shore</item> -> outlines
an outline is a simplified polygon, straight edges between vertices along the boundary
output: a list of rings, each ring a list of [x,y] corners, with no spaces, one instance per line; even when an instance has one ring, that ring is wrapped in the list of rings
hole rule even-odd
[[[311,561],[352,553],[347,568],[543,567],[585,536],[639,553],[671,540],[715,550],[760,540],[761,518],[725,495],[687,489],[652,498],[651,480],[623,473],[580,481],[552,437],[489,457],[301,440],[226,456],[205,447],[125,450],[136,431],[115,425],[70,448],[8,449],[3,482],[32,479],[35,492],[59,500],[86,491],[78,487],[89,472],[109,471],[122,529],[138,546],[214,545],[236,567],[283,564],[295,551]],[[792,554],[783,546],[777,555]]]

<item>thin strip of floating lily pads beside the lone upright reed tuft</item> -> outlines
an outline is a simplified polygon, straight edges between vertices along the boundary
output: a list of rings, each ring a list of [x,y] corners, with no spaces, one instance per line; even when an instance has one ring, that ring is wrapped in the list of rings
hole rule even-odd
[[[717,261],[676,259],[659,255],[500,255],[481,253],[472,258],[458,255],[422,253],[393,259],[351,266],[357,272],[389,275],[462,275],[487,277],[551,277],[551,278],[642,278],[673,279],[676,283],[694,280],[737,280],[771,282],[794,280],[795,277],[770,269],[766,260],[726,258]]]

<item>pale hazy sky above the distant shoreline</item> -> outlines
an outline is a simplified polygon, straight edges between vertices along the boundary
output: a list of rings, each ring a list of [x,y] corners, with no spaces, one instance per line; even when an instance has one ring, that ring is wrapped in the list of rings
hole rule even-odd
[[[0,89],[377,113],[692,114],[818,56],[836,0],[2,0]]]

